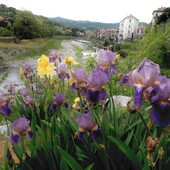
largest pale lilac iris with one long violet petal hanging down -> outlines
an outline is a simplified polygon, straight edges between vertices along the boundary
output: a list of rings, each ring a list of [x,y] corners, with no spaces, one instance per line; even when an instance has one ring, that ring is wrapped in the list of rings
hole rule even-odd
[[[144,100],[144,90],[154,84],[157,84],[159,74],[160,68],[158,64],[155,64],[150,60],[143,60],[137,69],[131,71],[122,78],[120,81],[121,84],[135,86],[135,108],[138,108],[142,104]]]

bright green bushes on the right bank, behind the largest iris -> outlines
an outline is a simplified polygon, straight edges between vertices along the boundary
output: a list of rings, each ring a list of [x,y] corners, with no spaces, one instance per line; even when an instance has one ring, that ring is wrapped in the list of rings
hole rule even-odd
[[[134,69],[143,59],[150,59],[161,66],[162,73],[169,76],[170,66],[170,24],[156,25],[155,29],[149,25],[142,40],[124,42],[116,45],[116,51],[125,57],[118,61],[118,73],[126,73]]]

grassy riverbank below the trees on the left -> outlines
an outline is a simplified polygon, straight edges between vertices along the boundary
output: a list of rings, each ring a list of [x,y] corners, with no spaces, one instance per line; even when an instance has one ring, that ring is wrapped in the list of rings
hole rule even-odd
[[[61,49],[62,40],[73,39],[73,37],[56,36],[51,38],[38,38],[33,40],[21,40],[19,44],[12,42],[0,42],[0,51],[4,55],[4,62],[8,59],[23,60],[34,58],[42,54],[48,55],[51,49]]]

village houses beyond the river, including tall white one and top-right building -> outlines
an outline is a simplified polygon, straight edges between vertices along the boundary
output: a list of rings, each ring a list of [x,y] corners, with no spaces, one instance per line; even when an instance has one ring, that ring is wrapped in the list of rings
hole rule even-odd
[[[153,11],[151,21],[153,25],[165,9],[165,7],[161,7]],[[142,39],[144,30],[145,26],[139,25],[139,20],[135,16],[129,15],[120,21],[119,29],[100,29],[99,31],[87,31],[86,34],[90,37],[104,41],[113,40],[116,42],[123,42],[127,39]]]

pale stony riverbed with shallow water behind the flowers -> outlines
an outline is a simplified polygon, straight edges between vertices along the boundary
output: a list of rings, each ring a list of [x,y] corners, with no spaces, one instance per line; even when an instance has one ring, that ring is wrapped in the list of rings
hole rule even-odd
[[[75,49],[79,48],[83,51],[84,59],[87,58],[87,54],[94,54],[94,51],[86,50],[91,42],[84,40],[63,40],[61,46],[62,49],[58,50],[58,54],[61,58],[65,58],[66,55],[75,57]],[[23,88],[24,84],[19,76],[19,68],[26,66],[26,64],[30,64],[31,67],[35,70],[37,66],[37,59],[41,56],[37,56],[35,58],[27,58],[25,60],[18,61],[8,61],[5,63],[7,65],[6,69],[8,69],[8,75],[4,79],[4,81],[0,84],[0,91],[3,93],[8,93],[8,87],[10,84],[13,85],[14,91],[17,92],[19,89]]]

